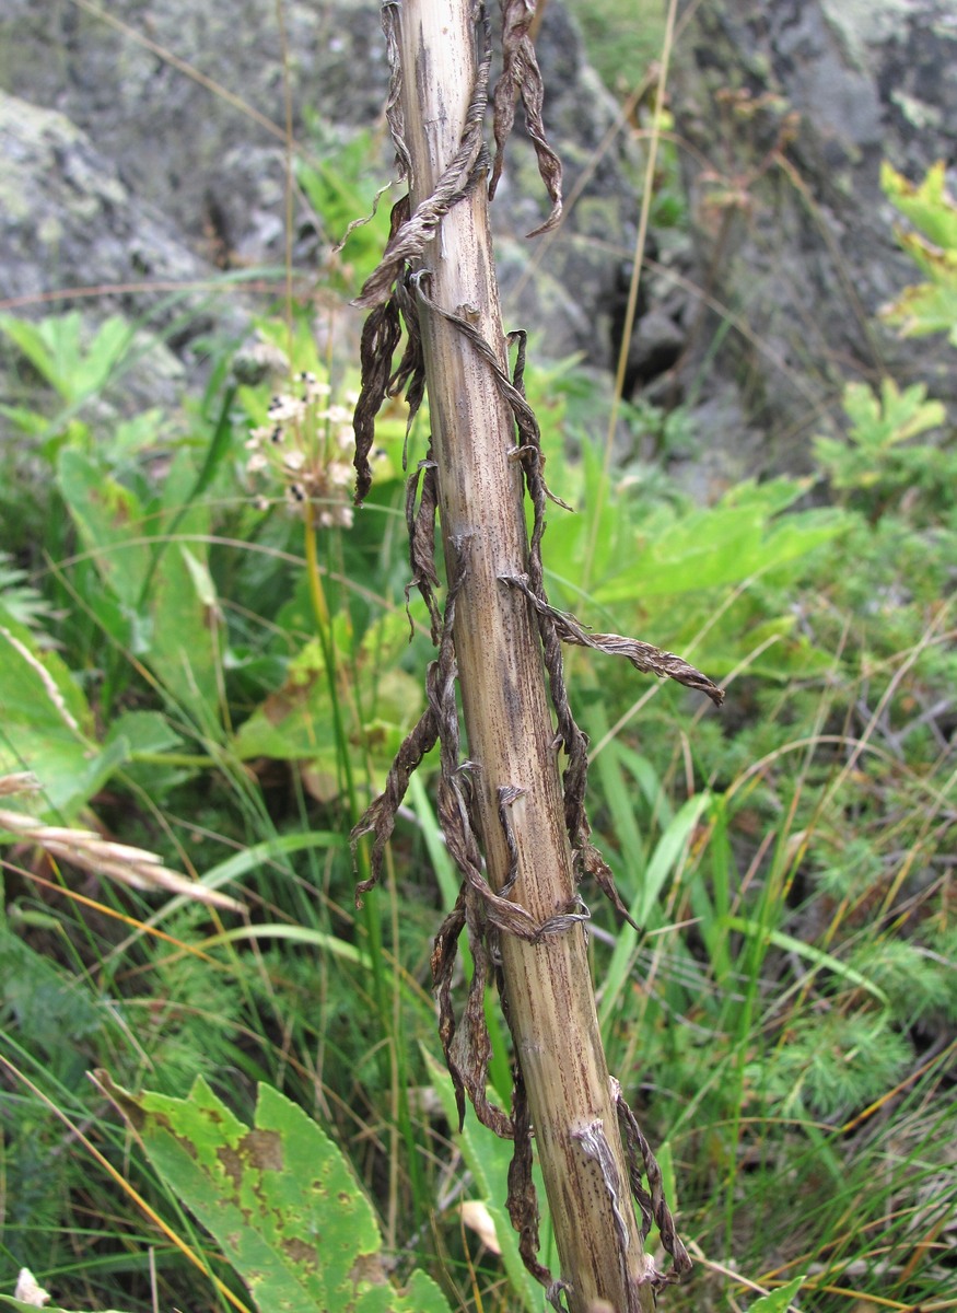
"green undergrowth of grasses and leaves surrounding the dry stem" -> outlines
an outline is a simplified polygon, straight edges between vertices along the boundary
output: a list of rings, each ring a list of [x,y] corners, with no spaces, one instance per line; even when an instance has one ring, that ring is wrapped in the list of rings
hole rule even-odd
[[[331,185],[303,177],[318,206]],[[361,1243],[336,1233],[356,1306],[541,1309],[503,1217],[508,1146],[471,1115],[457,1133],[437,1067],[429,951],[457,880],[435,763],[383,888],[353,902],[348,831],[432,653],[403,596],[404,410],[353,516],[357,379],[305,312],[264,319],[255,368],[223,360],[176,418],[114,423],[91,404],[119,330],[0,327],[49,385],[0,452],[0,775],[38,785],[0,807],[155,852],[202,893],[7,830],[0,1289],[28,1267],[63,1308],[339,1306],[320,1201],[276,1205],[302,1267],[257,1257],[273,1215],[236,1241],[222,1166],[268,1167],[269,1129],[305,1137],[284,1163],[326,1155],[361,1213]],[[609,1065],[698,1259],[667,1306],[935,1306],[954,1280],[953,429],[918,389],[849,387],[815,475],[701,507],[662,471],[604,473],[574,369],[528,385],[575,507],[549,512],[554,604],[727,688],[715,712],[568,662],[596,840],[642,927],[583,890]],[[423,414],[410,467],[425,433]],[[488,1015],[507,1099],[494,997]]]

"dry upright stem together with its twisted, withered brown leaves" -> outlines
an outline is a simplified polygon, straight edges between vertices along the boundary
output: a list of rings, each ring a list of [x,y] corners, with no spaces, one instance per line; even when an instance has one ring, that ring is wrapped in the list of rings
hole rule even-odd
[[[561,167],[541,119],[541,76],[528,37],[534,7],[530,0],[501,0],[501,8],[498,159],[520,92],[551,198],[547,226],[561,214]],[[369,488],[368,454],[383,400],[404,387],[415,411],[427,386],[432,446],[410,481],[406,515],[411,586],[429,608],[438,655],[428,671],[428,708],[399,750],[385,793],[353,831],[354,839],[375,836],[372,874],[360,894],[378,877],[412,771],[438,742],[438,815],[462,889],[436,939],[432,970],[459,1115],[467,1094],[486,1125],[515,1140],[509,1213],[525,1263],[549,1287],[551,1302],[561,1308],[564,1299],[571,1313],[599,1306],[651,1313],[655,1291],[689,1262],[662,1196],[658,1166],[601,1048],[579,878],[595,876],[624,909],[589,842],[588,741],[568,706],[561,647],[572,642],[618,653],[639,671],[677,679],[715,702],[722,695],[680,658],[618,634],[592,634],[549,605],[541,542],[550,494],[538,425],[521,385],[524,341],[515,376],[508,373],[488,228],[482,134],[491,60],[484,8],[473,0],[383,0],[383,28],[393,68],[389,123],[410,197],[393,214],[382,264],[358,301],[372,314],[354,423],[357,499]],[[407,347],[393,369],[402,323]],[[534,512],[530,541],[525,490]],[[448,582],[444,612],[435,596],[436,515]],[[457,1016],[452,981],[463,931],[474,973]],[[491,1048],[484,993],[492,978],[517,1060],[511,1117],[486,1098]],[[558,1280],[536,1257],[533,1128],[562,1263]],[[673,1258],[668,1276],[643,1250],[652,1217]]]

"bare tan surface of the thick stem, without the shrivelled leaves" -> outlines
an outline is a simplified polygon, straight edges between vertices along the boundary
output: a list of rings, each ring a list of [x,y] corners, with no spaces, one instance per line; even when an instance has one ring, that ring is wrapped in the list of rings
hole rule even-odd
[[[429,197],[459,146],[475,79],[471,0],[403,0],[398,13],[404,140],[412,207]],[[444,215],[425,247],[428,299],[465,319],[503,369],[507,349],[479,185]],[[538,924],[575,906],[551,712],[538,629],[505,586],[528,563],[512,412],[490,365],[452,322],[420,310],[442,544],[461,582],[454,645],[474,763],[488,880]],[[508,829],[503,793],[513,798]],[[508,1019],[528,1090],[572,1313],[654,1308],[629,1190],[579,922],[538,941],[501,932]]]

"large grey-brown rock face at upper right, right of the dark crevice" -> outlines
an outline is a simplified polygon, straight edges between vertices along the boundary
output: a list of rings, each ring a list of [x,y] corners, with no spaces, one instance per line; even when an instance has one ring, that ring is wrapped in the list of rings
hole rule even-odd
[[[943,339],[902,343],[874,320],[919,281],[895,247],[881,160],[916,181],[957,159],[953,5],[714,0],[671,98],[710,298],[696,356],[722,343],[771,463],[803,465],[848,378],[923,378],[957,399]]]

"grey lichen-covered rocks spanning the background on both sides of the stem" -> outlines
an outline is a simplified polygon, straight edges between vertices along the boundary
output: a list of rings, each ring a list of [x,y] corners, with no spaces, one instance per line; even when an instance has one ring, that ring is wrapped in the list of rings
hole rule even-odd
[[[284,16],[281,33],[253,0],[116,0],[109,17],[75,0],[3,0],[0,299],[122,286],[83,305],[139,316],[165,295],[146,284],[282,264],[286,96],[297,140],[319,158],[360,127],[377,133],[385,181],[378,5],[290,0]],[[799,469],[849,377],[889,370],[953,398],[943,343],[901,343],[874,322],[915,278],[894,244],[881,160],[916,179],[957,158],[953,7],[714,0],[679,51],[670,95],[689,147],[693,261],[663,240],[643,276],[627,386],[704,407],[712,490],[761,466]],[[537,331],[540,356],[579,352],[606,368],[639,171],[557,0],[538,54],[566,196],[584,186],[558,235],[526,240],[547,205],[520,113],[492,206],[505,320]],[[297,268],[320,284],[339,236],[299,204]],[[210,322],[177,328],[180,356]]]

